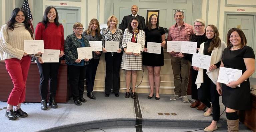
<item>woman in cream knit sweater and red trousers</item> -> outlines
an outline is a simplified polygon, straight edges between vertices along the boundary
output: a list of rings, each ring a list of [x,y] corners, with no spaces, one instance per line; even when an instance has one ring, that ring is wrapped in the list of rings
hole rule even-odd
[[[0,59],[5,60],[14,88],[7,101],[5,116],[9,120],[27,117],[28,114],[21,110],[21,103],[25,101],[26,80],[31,62],[31,57],[24,51],[24,40],[33,39],[33,32],[28,22],[28,16],[23,8],[15,8],[7,24],[3,25],[0,32]],[[41,52],[36,56],[41,55]],[[13,106],[15,109],[13,111]]]

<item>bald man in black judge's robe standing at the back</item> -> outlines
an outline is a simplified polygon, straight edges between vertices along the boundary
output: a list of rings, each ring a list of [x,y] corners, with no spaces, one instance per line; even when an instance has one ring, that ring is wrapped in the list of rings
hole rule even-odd
[[[141,29],[143,30],[144,28],[146,28],[146,24],[145,24],[145,19],[144,17],[142,16],[139,16],[137,13],[139,11],[139,8],[138,6],[136,5],[133,5],[132,8],[131,8],[131,12],[132,14],[131,15],[128,15],[128,16],[124,16],[123,20],[122,20],[122,23],[119,25],[119,29],[121,29],[123,32],[125,29],[127,29],[127,26],[130,22],[130,19],[132,17],[137,17],[139,19],[139,23],[140,23],[140,27]]]

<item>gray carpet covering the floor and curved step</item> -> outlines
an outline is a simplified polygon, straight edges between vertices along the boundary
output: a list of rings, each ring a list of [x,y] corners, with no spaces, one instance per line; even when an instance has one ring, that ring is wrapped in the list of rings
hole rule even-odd
[[[86,95],[86,93],[84,94]],[[111,94],[106,98],[104,93],[94,92],[96,100],[87,99],[81,106],[68,103],[58,103],[58,108],[48,106],[48,110],[40,109],[41,103],[22,104],[22,109],[29,116],[11,121],[5,117],[5,109],[0,110],[0,131],[35,132],[35,131],[63,131],[83,132],[90,128],[102,128],[108,132],[127,131],[135,132],[135,111],[133,99]],[[160,100],[147,99],[148,94],[138,94],[140,108],[143,117],[143,132],[157,131],[188,131],[204,128],[209,125],[212,117],[204,117],[203,111],[190,108],[190,103],[184,103],[181,99],[169,100],[170,95],[160,95]],[[0,108],[7,105],[0,102]],[[221,112],[223,106],[221,108]],[[163,113],[163,115],[158,115]],[[165,115],[164,113],[176,113],[177,115]],[[221,118],[225,118],[222,116]],[[221,124],[221,123],[220,123]],[[243,126],[243,125],[240,125]],[[226,130],[222,126],[220,130]],[[243,128],[243,130],[248,130]],[[91,129],[86,132],[101,132],[99,129]]]

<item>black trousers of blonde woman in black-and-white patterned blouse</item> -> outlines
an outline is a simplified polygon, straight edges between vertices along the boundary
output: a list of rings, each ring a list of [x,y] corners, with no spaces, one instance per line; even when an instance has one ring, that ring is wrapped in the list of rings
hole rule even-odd
[[[110,94],[113,88],[114,93],[118,94],[120,89],[120,66],[122,60],[121,53],[105,53],[106,61],[106,78],[105,78],[105,94]]]

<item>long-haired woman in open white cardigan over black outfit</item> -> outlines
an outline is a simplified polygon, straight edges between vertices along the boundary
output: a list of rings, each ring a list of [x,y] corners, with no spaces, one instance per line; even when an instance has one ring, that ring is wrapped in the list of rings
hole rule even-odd
[[[220,119],[219,94],[216,90],[216,83],[222,53],[227,45],[224,41],[220,40],[216,26],[208,25],[205,29],[205,34],[208,40],[200,45],[199,54],[210,55],[211,65],[209,69],[201,69],[195,66],[193,69],[199,70],[196,79],[198,99],[208,107],[204,116],[210,116],[213,113],[212,123],[204,131],[212,132],[218,129],[217,121]]]

